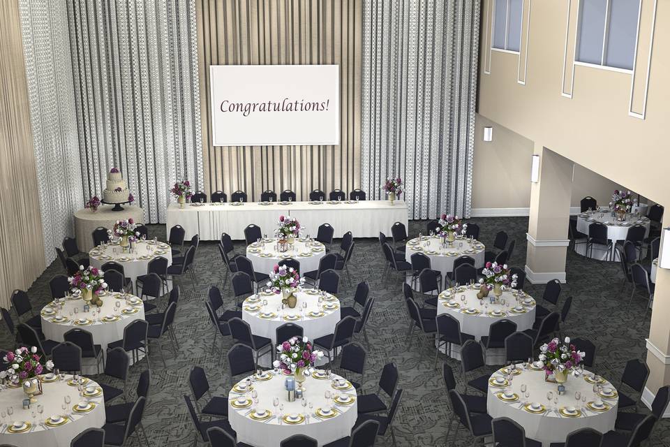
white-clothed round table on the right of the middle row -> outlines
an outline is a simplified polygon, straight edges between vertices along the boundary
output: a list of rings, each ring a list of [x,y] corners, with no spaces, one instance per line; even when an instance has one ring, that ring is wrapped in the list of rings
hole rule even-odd
[[[489,292],[489,297],[484,298],[484,304],[480,305],[477,292],[479,292],[479,284],[449,288],[443,291],[438,295],[438,315],[449,314],[453,316],[461,323],[461,332],[474,335],[477,341],[484,336],[488,336],[491,325],[503,318],[516,323],[516,330],[519,332],[533,328],[536,305],[533,297],[527,293],[517,292],[516,290],[503,291],[500,295],[500,301],[505,300],[506,303],[509,303],[509,307],[506,307],[502,304],[491,304],[489,302],[489,297],[493,296],[493,291]],[[464,303],[461,302],[461,296],[463,295],[466,298]],[[519,296],[518,303],[517,296]],[[470,309],[473,309],[473,312],[468,314]],[[457,360],[461,359],[460,346],[451,346],[450,357]],[[489,349],[486,352],[487,365],[500,365],[504,362],[505,349]]]

